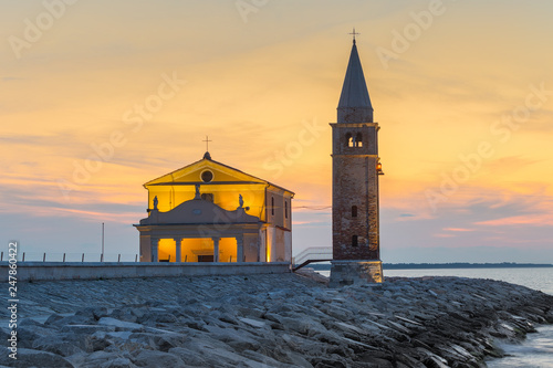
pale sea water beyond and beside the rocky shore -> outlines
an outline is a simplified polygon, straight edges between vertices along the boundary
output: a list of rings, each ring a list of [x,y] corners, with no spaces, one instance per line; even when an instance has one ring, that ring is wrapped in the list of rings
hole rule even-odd
[[[328,276],[330,271],[319,271]],[[384,270],[385,277],[459,276],[491,278],[524,285],[553,295],[553,267]],[[502,344],[505,357],[487,361],[490,368],[553,368],[553,326],[538,326],[521,344]]]

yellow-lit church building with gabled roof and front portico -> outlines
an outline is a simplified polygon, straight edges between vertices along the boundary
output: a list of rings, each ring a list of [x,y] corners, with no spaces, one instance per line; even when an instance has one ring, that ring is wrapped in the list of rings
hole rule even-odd
[[[142,262],[291,262],[292,191],[209,151],[144,187]]]

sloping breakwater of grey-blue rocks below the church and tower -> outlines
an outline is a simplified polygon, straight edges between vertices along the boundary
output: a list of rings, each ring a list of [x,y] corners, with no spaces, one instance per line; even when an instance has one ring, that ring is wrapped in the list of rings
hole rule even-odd
[[[294,274],[20,290],[18,360],[0,357],[11,367],[484,367],[502,354],[498,339],[553,323],[551,295],[458,277],[336,290]]]

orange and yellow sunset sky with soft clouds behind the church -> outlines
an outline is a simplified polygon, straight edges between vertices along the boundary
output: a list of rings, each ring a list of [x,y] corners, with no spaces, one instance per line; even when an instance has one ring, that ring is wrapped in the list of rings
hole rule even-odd
[[[143,183],[215,160],[331,246],[352,28],[380,125],[384,262],[553,263],[553,2],[0,0],[1,241],[137,253]],[[100,158],[100,159],[98,159]],[[246,203],[247,204],[247,203]]]

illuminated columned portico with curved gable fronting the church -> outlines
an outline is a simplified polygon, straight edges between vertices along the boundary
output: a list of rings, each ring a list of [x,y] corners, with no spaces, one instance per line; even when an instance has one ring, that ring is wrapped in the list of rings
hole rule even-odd
[[[142,262],[258,262],[265,259],[259,238],[267,225],[247,214],[243,208],[227,211],[210,201],[194,199],[168,212],[152,210],[150,215],[135,227],[140,232]],[[160,257],[160,243],[166,240],[171,240],[171,245]],[[201,245],[191,246],[194,240],[200,240]],[[228,240],[236,244],[230,252]],[[221,259],[221,241],[230,257]]]

